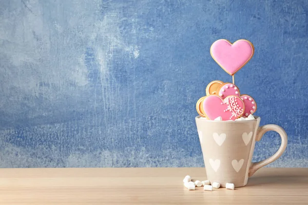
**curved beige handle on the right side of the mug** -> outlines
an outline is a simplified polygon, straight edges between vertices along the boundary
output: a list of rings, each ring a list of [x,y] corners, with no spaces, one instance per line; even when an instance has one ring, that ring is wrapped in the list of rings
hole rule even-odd
[[[264,167],[265,165],[268,165],[269,163],[272,163],[276,159],[278,159],[284,152],[286,145],[287,145],[287,135],[286,132],[278,125],[264,125],[258,129],[256,141],[260,141],[263,135],[268,131],[275,131],[277,132],[281,137],[281,145],[278,151],[271,157],[268,157],[267,159],[264,159],[262,161],[253,162],[251,167],[249,168],[249,174],[248,176],[252,176],[258,169],[261,167]]]

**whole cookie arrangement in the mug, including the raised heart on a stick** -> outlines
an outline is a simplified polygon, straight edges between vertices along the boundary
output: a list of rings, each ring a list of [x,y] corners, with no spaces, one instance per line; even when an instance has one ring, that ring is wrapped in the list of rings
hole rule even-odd
[[[206,96],[197,102],[197,112],[210,120],[236,120],[238,118],[254,118],[253,113],[257,105],[249,95],[240,94],[234,84],[234,74],[238,72],[254,55],[254,46],[245,39],[230,43],[226,39],[219,39],[210,47],[210,55],[216,63],[233,77],[232,83],[215,80],[206,87]]]

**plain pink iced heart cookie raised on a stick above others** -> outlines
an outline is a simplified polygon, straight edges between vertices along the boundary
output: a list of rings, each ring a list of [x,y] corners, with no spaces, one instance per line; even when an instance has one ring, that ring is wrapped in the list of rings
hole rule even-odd
[[[254,47],[248,40],[237,40],[231,44],[219,39],[210,47],[211,56],[230,75],[240,70],[254,55]]]

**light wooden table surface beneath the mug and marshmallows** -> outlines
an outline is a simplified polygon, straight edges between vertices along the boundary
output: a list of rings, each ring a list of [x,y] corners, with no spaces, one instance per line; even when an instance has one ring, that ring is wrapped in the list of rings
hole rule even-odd
[[[0,169],[0,204],[308,204],[308,168],[262,168],[246,187],[189,191],[205,168]]]

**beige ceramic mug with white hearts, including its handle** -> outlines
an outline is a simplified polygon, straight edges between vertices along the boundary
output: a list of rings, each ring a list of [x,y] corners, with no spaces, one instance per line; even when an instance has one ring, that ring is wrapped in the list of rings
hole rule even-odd
[[[241,121],[207,120],[196,117],[196,124],[210,183],[219,182],[221,187],[234,183],[235,187],[247,184],[248,177],[258,169],[278,159],[287,145],[287,135],[278,125],[259,127],[260,117]],[[281,137],[278,151],[271,157],[259,162],[252,162],[256,141],[263,134],[275,131]]]

